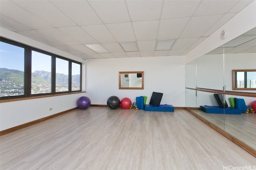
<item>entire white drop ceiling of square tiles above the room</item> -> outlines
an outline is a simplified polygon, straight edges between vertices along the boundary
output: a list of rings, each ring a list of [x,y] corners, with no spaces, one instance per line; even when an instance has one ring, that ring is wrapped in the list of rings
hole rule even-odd
[[[0,0],[0,26],[82,59],[186,55],[251,2]]]

